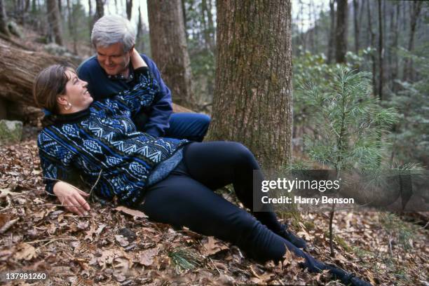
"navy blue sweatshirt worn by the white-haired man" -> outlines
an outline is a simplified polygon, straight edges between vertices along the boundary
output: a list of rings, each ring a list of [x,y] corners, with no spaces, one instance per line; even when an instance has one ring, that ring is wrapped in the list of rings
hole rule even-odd
[[[147,55],[140,55],[154,75],[160,90],[156,93],[154,102],[149,107],[142,108],[132,119],[135,121],[138,130],[147,132],[154,137],[162,137],[165,135],[165,130],[170,127],[169,121],[172,114],[170,89],[165,86],[163,79],[161,79],[161,74],[155,62],[149,59]],[[129,79],[109,76],[98,63],[96,56],[90,57],[83,62],[77,71],[79,79],[88,82],[88,91],[96,101],[109,98],[122,90],[129,90],[137,84],[138,80],[132,71],[132,67],[130,67]]]

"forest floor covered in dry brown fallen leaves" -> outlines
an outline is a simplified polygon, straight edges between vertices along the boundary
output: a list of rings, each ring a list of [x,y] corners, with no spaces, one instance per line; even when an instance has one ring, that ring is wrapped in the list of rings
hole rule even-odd
[[[36,129],[26,128],[25,135],[19,144],[0,146],[0,273],[47,278],[11,284],[341,285],[327,273],[303,271],[290,253],[282,264],[257,264],[237,247],[149,222],[142,212],[99,203],[88,216],[65,212],[43,191]],[[222,195],[235,201],[231,192]],[[429,285],[427,225],[381,212],[338,212],[331,258],[327,214],[289,221],[310,254],[373,285]]]

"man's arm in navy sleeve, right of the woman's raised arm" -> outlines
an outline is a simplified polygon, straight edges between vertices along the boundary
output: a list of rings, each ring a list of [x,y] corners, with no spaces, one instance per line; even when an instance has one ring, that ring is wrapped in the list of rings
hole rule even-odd
[[[161,90],[155,95],[154,104],[149,108],[149,118],[144,126],[144,132],[155,137],[162,137],[165,134],[165,130],[170,127],[169,121],[172,114],[171,92],[168,86],[165,85],[163,79],[161,79],[161,74],[158,67],[156,67],[155,62],[149,59],[146,55],[142,55],[142,57],[147,63],[149,69],[151,69],[152,74],[154,74],[154,77],[161,88]]]

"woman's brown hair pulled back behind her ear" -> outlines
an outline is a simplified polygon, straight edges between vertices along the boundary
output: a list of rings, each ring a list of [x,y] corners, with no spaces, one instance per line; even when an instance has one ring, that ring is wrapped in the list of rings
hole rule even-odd
[[[36,76],[33,83],[34,101],[39,107],[58,114],[58,95],[66,93],[66,84],[69,77],[66,71],[74,71],[71,67],[62,64],[53,64]]]

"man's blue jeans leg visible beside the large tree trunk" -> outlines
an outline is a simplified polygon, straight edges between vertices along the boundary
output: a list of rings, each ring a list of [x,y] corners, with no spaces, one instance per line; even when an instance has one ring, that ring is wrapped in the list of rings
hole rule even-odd
[[[207,133],[210,116],[205,114],[177,113],[170,117],[170,128],[165,130],[164,137],[189,139],[201,142]]]

